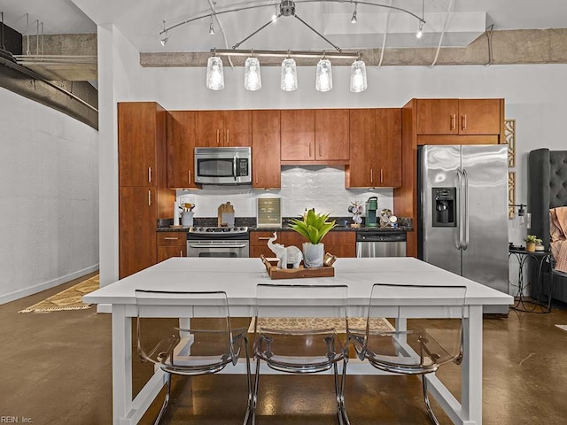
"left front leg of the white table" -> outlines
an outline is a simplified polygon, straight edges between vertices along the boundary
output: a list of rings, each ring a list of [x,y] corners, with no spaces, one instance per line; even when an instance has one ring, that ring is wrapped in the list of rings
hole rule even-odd
[[[113,425],[132,408],[132,320],[125,305],[113,305]]]

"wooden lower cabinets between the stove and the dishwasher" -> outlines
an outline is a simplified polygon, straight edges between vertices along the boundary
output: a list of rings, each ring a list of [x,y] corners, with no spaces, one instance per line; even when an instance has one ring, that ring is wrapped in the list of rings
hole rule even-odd
[[[285,246],[295,245],[299,249],[307,239],[299,233],[291,230],[278,231],[276,243],[283,243]],[[268,239],[274,236],[274,232],[252,231],[250,232],[250,257],[275,257],[268,249]],[[322,240],[325,245],[325,252],[330,252],[338,258],[356,257],[356,233],[351,231],[331,231]]]

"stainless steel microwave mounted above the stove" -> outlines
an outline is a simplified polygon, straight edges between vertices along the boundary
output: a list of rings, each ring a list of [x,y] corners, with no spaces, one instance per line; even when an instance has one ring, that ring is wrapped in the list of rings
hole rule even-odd
[[[252,148],[195,148],[195,182],[252,183]]]

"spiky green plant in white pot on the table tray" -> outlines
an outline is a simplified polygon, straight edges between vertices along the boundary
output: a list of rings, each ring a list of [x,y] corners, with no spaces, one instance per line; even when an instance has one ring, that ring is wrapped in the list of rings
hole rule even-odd
[[[336,225],[335,220],[329,220],[329,214],[307,211],[303,219],[290,220],[289,227],[307,238],[303,243],[303,264],[305,267],[322,267],[325,254],[322,238]]]

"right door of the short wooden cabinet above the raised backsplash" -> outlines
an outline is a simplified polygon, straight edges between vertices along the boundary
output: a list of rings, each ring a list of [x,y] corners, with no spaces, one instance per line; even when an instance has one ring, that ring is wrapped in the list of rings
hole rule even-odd
[[[349,128],[348,109],[316,109],[315,158],[347,161]]]

